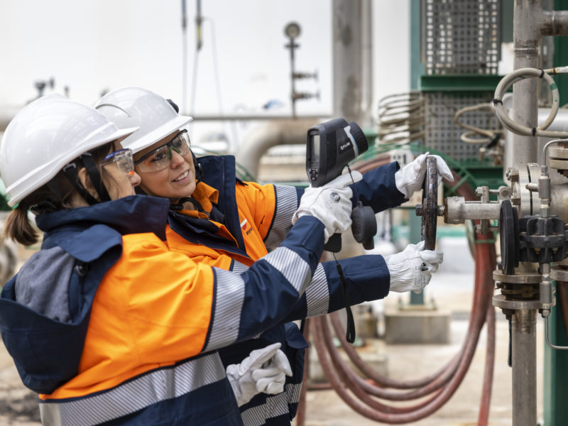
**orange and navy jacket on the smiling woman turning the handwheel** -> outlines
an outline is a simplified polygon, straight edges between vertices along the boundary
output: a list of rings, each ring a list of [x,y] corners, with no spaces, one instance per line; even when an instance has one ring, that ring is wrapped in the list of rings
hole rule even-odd
[[[285,238],[303,190],[284,185],[258,185],[234,177],[232,157],[199,158],[204,170],[192,195],[200,212],[174,209],[167,229],[170,249],[195,261],[231,271],[246,271],[253,261]],[[364,175],[357,191],[378,212],[400,204],[403,195],[395,187],[392,163]],[[208,185],[210,184],[210,185]],[[214,186],[214,187],[213,187]],[[381,256],[358,256],[339,261],[347,280],[351,305],[376,300],[388,293],[389,275]],[[269,283],[267,283],[268,285]],[[287,320],[323,315],[345,306],[335,262],[318,265],[312,283]],[[280,342],[293,367],[280,395],[256,395],[241,406],[245,425],[290,425],[302,386],[303,349],[307,344],[293,323],[273,327],[257,339],[220,351],[225,365],[240,362],[250,351]]]

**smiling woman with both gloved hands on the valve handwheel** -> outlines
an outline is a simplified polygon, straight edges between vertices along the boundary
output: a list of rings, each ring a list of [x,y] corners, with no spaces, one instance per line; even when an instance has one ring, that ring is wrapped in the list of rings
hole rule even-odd
[[[236,178],[230,155],[195,158],[185,129],[192,119],[179,114],[169,99],[146,89],[117,89],[99,99],[95,107],[119,127],[140,126],[124,144],[133,151],[135,168],[141,175],[139,189],[148,195],[167,197],[172,203],[166,232],[170,249],[200,263],[246,271],[257,258],[283,243],[295,212],[302,210],[302,189],[242,182]],[[379,212],[395,207],[420,188],[423,165],[425,155],[402,170],[398,170],[397,163],[391,163],[366,173],[363,180],[351,186],[359,200]],[[451,178],[441,158],[438,167],[442,175]],[[359,173],[353,175],[361,179]],[[341,178],[353,182],[349,175]],[[305,192],[308,197],[314,193],[317,189]],[[358,256],[339,264],[347,277],[349,304],[355,305],[385,297],[389,290],[422,289],[441,261],[442,253],[411,244],[403,253],[388,258]],[[417,268],[422,264],[427,267]],[[269,288],[270,280],[266,285]],[[286,320],[323,315],[345,305],[336,263],[321,263],[305,297]],[[280,395],[263,389],[251,400],[239,400],[236,393],[245,424],[290,425],[302,385],[303,349],[307,343],[297,326],[287,323],[221,351],[224,364],[234,364],[249,351],[262,350],[273,342],[282,345],[293,375],[286,378],[285,386],[273,386],[272,393]],[[227,373],[231,376],[231,368]]]

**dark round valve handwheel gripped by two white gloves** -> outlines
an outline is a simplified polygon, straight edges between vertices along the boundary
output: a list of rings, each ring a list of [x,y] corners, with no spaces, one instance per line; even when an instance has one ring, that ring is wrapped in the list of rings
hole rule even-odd
[[[438,168],[435,157],[426,158],[426,176],[422,189],[422,235],[425,250],[436,247],[438,216]]]

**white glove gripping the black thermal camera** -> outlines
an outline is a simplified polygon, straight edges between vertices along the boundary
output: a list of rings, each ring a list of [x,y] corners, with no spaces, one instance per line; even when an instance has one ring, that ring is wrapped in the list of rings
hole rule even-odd
[[[349,185],[363,179],[354,171],[338,176],[319,188],[307,187],[300,199],[300,207],[292,217],[292,224],[306,214],[317,217],[324,224],[325,242],[333,234],[342,234],[351,226],[351,196]]]

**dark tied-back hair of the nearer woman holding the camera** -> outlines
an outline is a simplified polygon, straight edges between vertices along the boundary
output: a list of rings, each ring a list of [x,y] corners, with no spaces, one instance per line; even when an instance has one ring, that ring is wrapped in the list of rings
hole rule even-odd
[[[104,170],[100,167],[100,163],[102,163],[104,157],[107,156],[111,147],[112,143],[109,142],[89,151],[97,165],[99,165],[99,172],[101,174]],[[83,167],[80,158],[76,158],[69,164],[75,164],[77,170]],[[75,184],[77,183],[80,185],[80,182],[75,182]],[[101,185],[103,185],[102,180]],[[97,188],[97,190],[99,190],[99,188]],[[39,237],[38,231],[28,218],[28,210],[31,210],[35,215],[39,215],[70,209],[73,207],[71,199],[75,193],[77,193],[77,190],[73,182],[70,182],[67,175],[60,171],[55,175],[55,178],[50,180],[47,184],[21,200],[18,207],[10,212],[6,218],[6,224],[4,224],[4,236],[16,240],[24,246],[31,246],[37,243]]]

